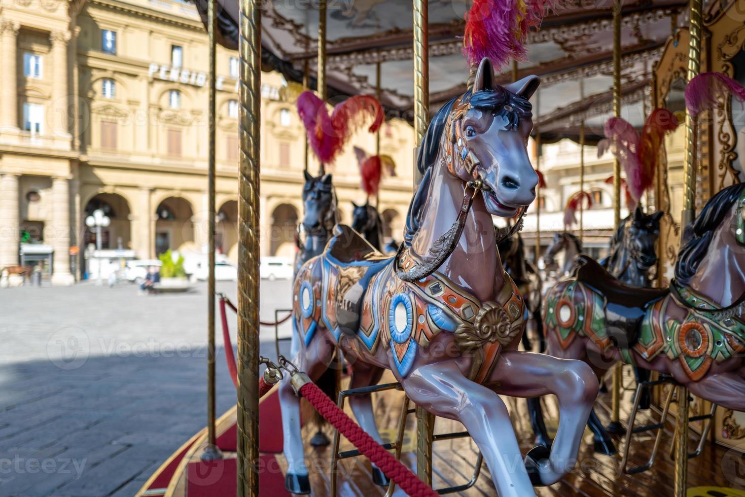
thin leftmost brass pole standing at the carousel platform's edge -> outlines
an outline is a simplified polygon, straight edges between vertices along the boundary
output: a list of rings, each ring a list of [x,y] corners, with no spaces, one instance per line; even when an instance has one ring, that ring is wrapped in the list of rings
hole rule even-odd
[[[215,443],[215,1],[207,2],[209,19],[209,139],[207,156],[207,447],[202,458],[221,458]]]

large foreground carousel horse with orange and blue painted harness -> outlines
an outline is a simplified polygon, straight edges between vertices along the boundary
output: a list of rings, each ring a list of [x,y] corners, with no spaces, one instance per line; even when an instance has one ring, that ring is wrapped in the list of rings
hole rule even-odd
[[[528,99],[538,84],[526,77],[498,86],[492,64],[481,60],[472,88],[428,127],[418,159],[424,179],[399,253],[383,256],[339,226],[323,254],[302,266],[293,290],[301,370],[318,378],[335,349],[351,365],[352,388],[375,384],[390,369],[413,402],[466,426],[501,497],[533,495],[533,483],[553,484],[571,470],[597,395],[597,378],[582,361],[517,350],[524,303],[496,250],[512,233],[495,232],[492,215],[511,218],[535,199],[538,177],[526,145],[533,128]],[[500,393],[558,397],[550,453],[533,449],[521,463]],[[299,399],[289,379],[279,396],[285,483],[291,492],[309,492]],[[359,424],[381,441],[370,397],[353,399]]]

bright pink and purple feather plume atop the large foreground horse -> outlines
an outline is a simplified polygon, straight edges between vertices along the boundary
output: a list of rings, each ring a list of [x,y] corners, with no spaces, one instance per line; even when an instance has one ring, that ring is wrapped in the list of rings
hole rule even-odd
[[[466,13],[463,55],[474,66],[488,57],[499,70],[509,60],[526,60],[525,39],[539,28],[558,0],[474,0]]]

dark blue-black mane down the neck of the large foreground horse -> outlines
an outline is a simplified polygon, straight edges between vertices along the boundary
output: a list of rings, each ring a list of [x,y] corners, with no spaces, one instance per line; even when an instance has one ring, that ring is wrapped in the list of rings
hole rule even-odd
[[[429,185],[432,179],[432,165],[434,165],[434,161],[437,159],[437,154],[440,153],[440,139],[442,139],[443,132],[448,125],[448,116],[452,112],[456,100],[457,97],[443,105],[443,107],[440,107],[440,110],[437,111],[437,114],[434,115],[434,118],[429,123],[427,133],[422,140],[422,145],[419,146],[416,168],[419,169],[419,173],[423,177],[422,181],[419,182],[419,187],[416,189],[413,197],[411,197],[409,212],[406,215],[404,243],[407,247],[411,246],[411,241],[422,222],[422,209],[427,201]]]

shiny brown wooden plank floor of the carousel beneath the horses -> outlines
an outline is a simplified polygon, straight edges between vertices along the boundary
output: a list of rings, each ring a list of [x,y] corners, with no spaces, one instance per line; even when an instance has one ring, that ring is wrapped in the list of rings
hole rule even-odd
[[[625,384],[633,384],[631,381],[630,370],[625,371],[628,376],[624,380]],[[393,381],[392,377],[384,376],[381,382]],[[345,386],[343,384],[343,386]],[[624,422],[628,418],[631,408],[631,398],[633,393],[629,390],[623,393],[623,402],[621,403],[621,420]],[[403,393],[390,390],[387,392],[373,394],[375,405],[375,414],[378,420],[378,426],[381,428],[381,435],[385,441],[393,441],[396,437],[396,427],[399,413],[401,411],[401,402]],[[512,414],[513,426],[519,438],[519,443],[527,452],[533,447],[533,436],[530,431],[530,422],[527,415],[527,408],[524,400],[505,398],[508,408]],[[600,402],[597,403],[597,412],[603,422],[609,420],[609,403],[610,395],[603,394]],[[551,404],[551,401],[548,401]],[[349,409],[347,408],[349,412]],[[636,425],[642,423],[654,422],[659,420],[658,414],[653,411],[640,411],[637,417]],[[551,487],[536,488],[539,496],[671,496],[673,494],[673,461],[668,457],[671,450],[671,440],[673,437],[673,417],[665,427],[665,434],[662,437],[662,445],[657,455],[657,460],[652,469],[638,475],[626,475],[618,470],[621,456],[608,457],[604,455],[595,455],[592,450],[592,434],[586,431],[583,445],[580,448],[580,455],[577,465],[570,475],[562,481]],[[557,420],[547,420],[547,425],[555,427]],[[416,468],[416,429],[415,417],[409,415],[404,451],[402,460],[412,468]],[[448,433],[454,431],[463,431],[463,426],[457,422],[443,420],[438,418],[435,424],[434,432],[436,434]],[[311,471],[311,485],[314,496],[328,496],[330,493],[329,466],[331,460],[331,447],[313,449],[308,443],[308,439],[313,436],[316,428],[312,425],[306,425],[303,428],[303,437],[305,437],[305,447],[308,448],[306,458]],[[325,428],[329,439],[333,437],[333,430],[330,427]],[[697,437],[694,431],[691,431],[691,437]],[[638,466],[646,463],[650,456],[650,450],[653,446],[654,435],[637,434],[633,440],[629,466]],[[624,437],[615,438],[616,446],[621,451],[624,444]],[[696,440],[691,439],[690,450],[693,451]],[[342,440],[341,449],[352,449],[353,447]],[[468,482],[474,470],[474,463],[478,457],[478,450],[475,444],[469,438],[443,440],[436,442],[434,445],[433,460],[433,481],[434,488],[452,487]],[[688,464],[688,497],[745,497],[743,487],[735,487],[731,481],[728,481],[723,474],[722,463],[728,449],[707,443],[703,453]],[[278,455],[280,466],[284,469],[285,461],[282,455]],[[703,488],[707,487],[707,488]],[[711,487],[726,487],[731,490],[711,490]],[[375,496],[383,495],[384,490],[376,487],[370,478],[370,463],[364,458],[347,459],[340,461],[339,469],[339,495],[340,496]],[[396,493],[402,495],[402,493]],[[495,496],[495,487],[492,484],[489,469],[484,464],[481,475],[475,486],[459,494],[461,496]]]

